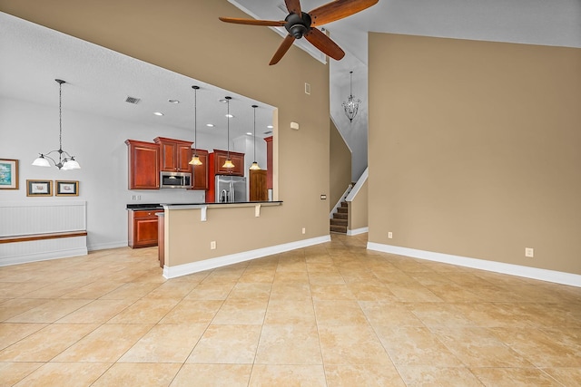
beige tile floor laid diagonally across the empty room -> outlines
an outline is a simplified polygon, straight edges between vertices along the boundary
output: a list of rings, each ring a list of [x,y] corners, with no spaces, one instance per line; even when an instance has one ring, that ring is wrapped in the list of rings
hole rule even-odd
[[[2,386],[579,386],[581,288],[367,251],[0,267]]]

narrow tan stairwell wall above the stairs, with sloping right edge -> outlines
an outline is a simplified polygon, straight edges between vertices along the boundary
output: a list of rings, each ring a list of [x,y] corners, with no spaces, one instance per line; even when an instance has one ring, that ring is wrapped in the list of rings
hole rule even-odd
[[[329,211],[331,211],[351,183],[351,151],[332,120],[330,120],[329,180]]]

